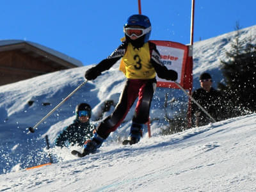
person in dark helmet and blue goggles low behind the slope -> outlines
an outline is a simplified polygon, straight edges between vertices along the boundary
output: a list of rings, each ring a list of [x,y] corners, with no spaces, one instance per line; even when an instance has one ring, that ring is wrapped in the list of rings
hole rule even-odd
[[[93,136],[95,125],[90,124],[92,109],[89,104],[81,103],[76,107],[76,120],[68,125],[56,139],[56,146],[68,147],[68,145],[83,146],[84,141]]]

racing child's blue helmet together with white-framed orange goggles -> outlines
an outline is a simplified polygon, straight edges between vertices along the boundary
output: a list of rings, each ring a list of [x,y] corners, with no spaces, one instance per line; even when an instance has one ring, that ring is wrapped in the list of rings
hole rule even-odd
[[[138,28],[132,28],[132,26],[140,26]],[[124,25],[124,33],[127,36],[135,35],[138,38],[144,36],[144,43],[148,42],[151,33],[151,23],[147,16],[145,15],[131,15]]]

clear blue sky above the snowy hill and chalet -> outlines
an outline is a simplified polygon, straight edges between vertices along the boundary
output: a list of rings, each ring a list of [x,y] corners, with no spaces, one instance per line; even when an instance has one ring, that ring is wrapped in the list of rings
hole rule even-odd
[[[255,0],[195,0],[194,42],[256,24]],[[152,23],[151,40],[189,44],[191,0],[141,0]],[[138,0],[1,0],[0,40],[28,40],[84,65],[99,63],[120,44]]]

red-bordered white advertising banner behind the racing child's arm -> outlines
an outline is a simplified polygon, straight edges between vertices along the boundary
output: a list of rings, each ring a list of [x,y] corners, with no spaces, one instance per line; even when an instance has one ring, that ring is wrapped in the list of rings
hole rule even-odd
[[[184,89],[191,88],[192,81],[192,56],[189,56],[189,45],[177,42],[150,40],[157,45],[161,60],[168,69],[178,73],[177,83]],[[157,86],[166,88],[179,88],[173,81],[167,81],[157,77]]]

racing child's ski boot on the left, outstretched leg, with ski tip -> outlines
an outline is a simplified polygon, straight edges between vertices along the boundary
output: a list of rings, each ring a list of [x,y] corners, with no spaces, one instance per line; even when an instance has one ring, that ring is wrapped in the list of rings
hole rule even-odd
[[[84,142],[84,148],[83,148],[83,152],[80,153],[77,150],[72,150],[72,154],[74,156],[78,156],[78,157],[84,157],[87,156],[88,154],[93,154],[96,152],[97,148],[100,148],[100,146],[102,145],[104,139],[101,138],[97,132],[95,132],[95,134],[93,135],[92,139],[87,140]]]

